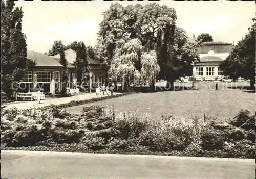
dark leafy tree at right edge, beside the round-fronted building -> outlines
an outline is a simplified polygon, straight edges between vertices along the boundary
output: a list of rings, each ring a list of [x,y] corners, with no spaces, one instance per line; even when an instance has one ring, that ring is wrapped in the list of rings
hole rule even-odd
[[[253,25],[249,32],[242,38],[232,52],[223,61],[221,68],[224,75],[229,75],[233,79],[239,76],[250,79],[250,87],[255,84],[255,32],[256,19],[253,18]]]

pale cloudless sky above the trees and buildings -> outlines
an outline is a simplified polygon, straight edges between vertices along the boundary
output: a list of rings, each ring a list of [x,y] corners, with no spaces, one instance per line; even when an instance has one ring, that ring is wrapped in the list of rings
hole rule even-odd
[[[123,6],[151,2],[115,1]],[[115,3],[114,2],[114,3]],[[28,50],[48,52],[55,40],[64,45],[83,41],[86,46],[97,43],[102,13],[112,2],[104,1],[17,1],[24,12],[22,31],[27,36]],[[248,32],[255,17],[254,1],[159,1],[159,5],[173,7],[177,25],[189,37],[209,33],[214,41],[236,44]]]

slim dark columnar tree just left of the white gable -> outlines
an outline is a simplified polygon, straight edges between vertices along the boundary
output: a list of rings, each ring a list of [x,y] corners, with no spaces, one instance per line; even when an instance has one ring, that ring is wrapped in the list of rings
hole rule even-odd
[[[67,62],[67,59],[65,58],[65,51],[63,46],[60,46],[59,56],[60,56],[59,63],[65,67],[65,69],[61,72],[61,81],[62,81],[61,94],[62,96],[64,96],[66,94],[69,72],[67,69],[68,62]]]

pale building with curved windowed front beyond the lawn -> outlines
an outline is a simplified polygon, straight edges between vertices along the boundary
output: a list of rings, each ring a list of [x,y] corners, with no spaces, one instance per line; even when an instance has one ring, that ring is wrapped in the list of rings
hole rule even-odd
[[[200,60],[193,67],[196,80],[221,79],[223,70],[220,64],[229,56],[233,47],[231,43],[203,42],[198,49]]]

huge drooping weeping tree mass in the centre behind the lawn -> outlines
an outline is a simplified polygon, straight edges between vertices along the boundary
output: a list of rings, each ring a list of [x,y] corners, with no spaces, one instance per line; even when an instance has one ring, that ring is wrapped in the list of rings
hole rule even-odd
[[[143,74],[146,74],[152,66],[158,69],[159,65],[158,78],[167,78],[173,83],[178,75],[192,71],[189,62],[198,58],[197,44],[188,42],[185,31],[176,26],[177,16],[173,8],[156,3],[126,7],[116,3],[103,15],[97,53],[114,79],[123,78],[124,83],[129,81],[127,79],[138,80],[139,76],[142,78],[142,67]],[[146,64],[143,57],[151,59],[151,65]],[[144,78],[152,83],[153,76],[144,75]]]

